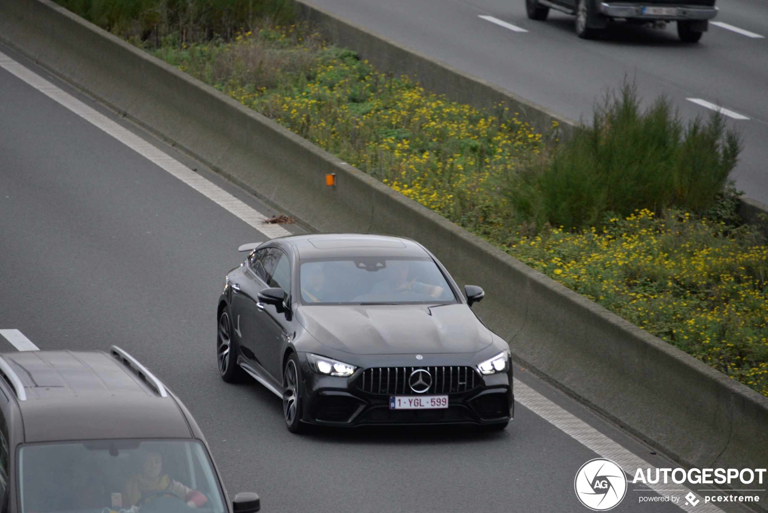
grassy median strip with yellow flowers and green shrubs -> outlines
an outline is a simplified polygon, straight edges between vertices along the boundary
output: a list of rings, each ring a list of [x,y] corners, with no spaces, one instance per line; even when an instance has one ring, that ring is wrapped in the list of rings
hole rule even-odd
[[[63,5],[768,395],[765,241],[723,194],[721,117],[625,85],[573,141],[381,74],[282,2]]]

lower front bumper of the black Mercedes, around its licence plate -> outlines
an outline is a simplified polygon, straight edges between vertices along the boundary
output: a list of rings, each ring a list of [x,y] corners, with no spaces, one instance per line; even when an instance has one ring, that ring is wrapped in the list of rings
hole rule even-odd
[[[302,362],[302,420],[316,425],[492,425],[509,422],[514,415],[511,375],[485,376],[465,392],[450,392],[445,409],[389,409],[389,393],[362,390],[362,370],[349,378],[322,376]],[[478,374],[479,377],[479,374]],[[402,396],[401,393],[392,394]],[[408,394],[406,394],[408,395]],[[432,395],[432,394],[425,394]],[[411,396],[418,396],[412,394]]]

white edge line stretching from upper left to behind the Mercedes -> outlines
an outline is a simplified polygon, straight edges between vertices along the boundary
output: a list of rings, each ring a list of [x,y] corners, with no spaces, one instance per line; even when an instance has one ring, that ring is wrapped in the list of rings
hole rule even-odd
[[[79,101],[77,98],[71,96],[71,94],[57,88],[54,84],[45,80],[45,78],[42,78],[40,75],[35,74],[24,66],[18,64],[18,62],[2,52],[0,52],[0,68],[4,68],[12,74],[15,74],[16,77],[45,94],[48,98],[58,101],[59,104],[68,108],[70,111],[74,112],[74,114],[78,114],[78,116],[82,117],[84,120],[101,128],[101,130],[110,134],[127,147],[130,147],[131,150],[136,151],[137,154],[140,154],[157,166],[162,167],[168,173],[174,175],[174,177],[177,177],[194,190],[197,190],[200,194],[203,194],[205,197],[213,200],[214,203],[219,204],[224,209],[230,211],[230,213],[233,213],[241,220],[250,224],[250,226],[266,235],[266,237],[272,239],[273,237],[290,235],[288,230],[280,227],[278,224],[264,224],[263,221],[266,219],[266,216],[262,213],[253,210],[253,208],[244,204],[227,191],[221,189],[221,187],[212,184],[189,167],[176,161],[163,151],[158,150],[152,144],[149,144],[133,132],[121,127],[103,114],[94,111],[94,109],[88,107],[88,105],[84,104],[82,101]]]

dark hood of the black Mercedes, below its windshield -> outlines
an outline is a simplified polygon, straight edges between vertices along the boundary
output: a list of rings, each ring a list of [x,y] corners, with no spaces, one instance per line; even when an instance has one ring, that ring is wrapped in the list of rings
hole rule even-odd
[[[465,304],[308,306],[297,319],[324,346],[359,355],[477,352],[492,343]]]

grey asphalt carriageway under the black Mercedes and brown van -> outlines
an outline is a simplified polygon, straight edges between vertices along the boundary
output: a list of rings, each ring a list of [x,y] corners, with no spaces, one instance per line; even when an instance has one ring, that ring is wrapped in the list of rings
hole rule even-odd
[[[0,51],[45,76],[8,48]],[[3,69],[0,91],[0,329],[19,329],[44,350],[116,344],[131,352],[197,419],[230,495],[257,491],[267,513],[587,511],[574,495],[574,475],[597,454],[519,404],[500,433],[292,435],[279,398],[257,382],[227,385],[216,367],[215,302],[224,273],[243,259],[237,247],[265,240],[263,233]],[[14,350],[0,338],[0,351]],[[641,458],[677,466],[528,372],[518,368],[517,376]],[[680,511],[670,503],[641,505],[639,497],[654,492],[636,489],[629,485],[614,511]]]

